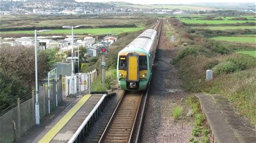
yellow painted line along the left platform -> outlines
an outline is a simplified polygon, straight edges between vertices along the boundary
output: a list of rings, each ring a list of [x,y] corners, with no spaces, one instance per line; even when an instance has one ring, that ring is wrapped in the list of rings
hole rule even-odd
[[[90,97],[91,95],[85,95],[82,99],[80,99],[80,101],[75,106],[73,106],[73,108],[70,109],[69,112],[66,113],[66,115],[64,115],[62,119],[60,119],[58,123],[55,124],[55,126],[53,126],[51,130],[48,133],[46,133],[41,140],[39,140],[39,142],[50,142],[52,138],[54,138],[55,135],[62,129],[62,127],[66,123],[68,123],[68,121],[73,117],[73,115],[75,115],[75,113],[84,105],[84,103]]]

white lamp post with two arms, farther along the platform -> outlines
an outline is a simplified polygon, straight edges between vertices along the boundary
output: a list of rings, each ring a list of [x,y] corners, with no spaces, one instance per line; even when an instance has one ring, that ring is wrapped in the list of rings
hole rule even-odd
[[[73,39],[73,28],[78,28],[80,26],[85,26],[85,25],[77,25],[77,26],[68,26],[68,25],[64,25],[62,26],[62,28],[68,28],[71,29],[71,34],[72,34],[72,40],[71,40],[71,45],[72,45],[72,49],[71,49],[71,57],[74,57],[74,39]],[[72,96],[75,95],[75,80],[74,80],[74,74],[75,74],[75,66],[74,66],[74,62],[71,62],[71,66],[72,66],[72,80],[71,80],[71,94]]]

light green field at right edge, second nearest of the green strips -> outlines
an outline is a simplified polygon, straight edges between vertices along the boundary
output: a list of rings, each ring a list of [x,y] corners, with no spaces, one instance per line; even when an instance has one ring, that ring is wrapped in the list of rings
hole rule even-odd
[[[256,37],[213,37],[213,40],[255,43]]]

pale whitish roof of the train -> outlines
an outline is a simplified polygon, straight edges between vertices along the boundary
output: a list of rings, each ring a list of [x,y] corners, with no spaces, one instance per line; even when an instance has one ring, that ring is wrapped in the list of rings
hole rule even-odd
[[[154,38],[156,37],[156,30],[148,29],[134,39],[129,45],[127,45],[122,52],[134,51],[136,49],[143,49],[146,53],[149,53],[151,45],[153,44]]]

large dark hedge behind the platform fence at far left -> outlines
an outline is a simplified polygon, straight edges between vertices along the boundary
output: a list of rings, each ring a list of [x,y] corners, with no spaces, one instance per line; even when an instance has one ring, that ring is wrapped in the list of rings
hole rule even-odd
[[[56,61],[62,58],[58,49],[38,52],[38,79],[46,77]],[[35,87],[35,49],[34,47],[0,48],[0,110],[5,109],[17,98],[22,98]]]

